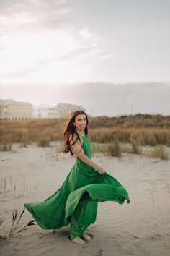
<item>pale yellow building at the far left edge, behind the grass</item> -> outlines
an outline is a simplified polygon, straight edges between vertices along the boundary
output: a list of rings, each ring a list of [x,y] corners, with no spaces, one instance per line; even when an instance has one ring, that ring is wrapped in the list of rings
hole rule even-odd
[[[12,99],[0,99],[0,119],[32,119],[32,104],[22,101],[14,101]]]

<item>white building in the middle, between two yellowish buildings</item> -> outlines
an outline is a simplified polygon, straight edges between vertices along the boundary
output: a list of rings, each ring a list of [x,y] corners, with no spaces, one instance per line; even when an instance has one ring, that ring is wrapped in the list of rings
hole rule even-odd
[[[38,105],[33,106],[34,118],[58,118],[59,112],[57,106]]]

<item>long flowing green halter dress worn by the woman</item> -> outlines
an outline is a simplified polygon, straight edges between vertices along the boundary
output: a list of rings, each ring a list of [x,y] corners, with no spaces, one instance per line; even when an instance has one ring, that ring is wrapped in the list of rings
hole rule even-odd
[[[84,135],[82,148],[91,158],[91,145]],[[113,176],[99,174],[95,168],[76,158],[76,163],[61,187],[42,202],[24,203],[42,229],[58,229],[70,223],[71,239],[82,236],[94,223],[98,202],[130,202],[128,192]]]

